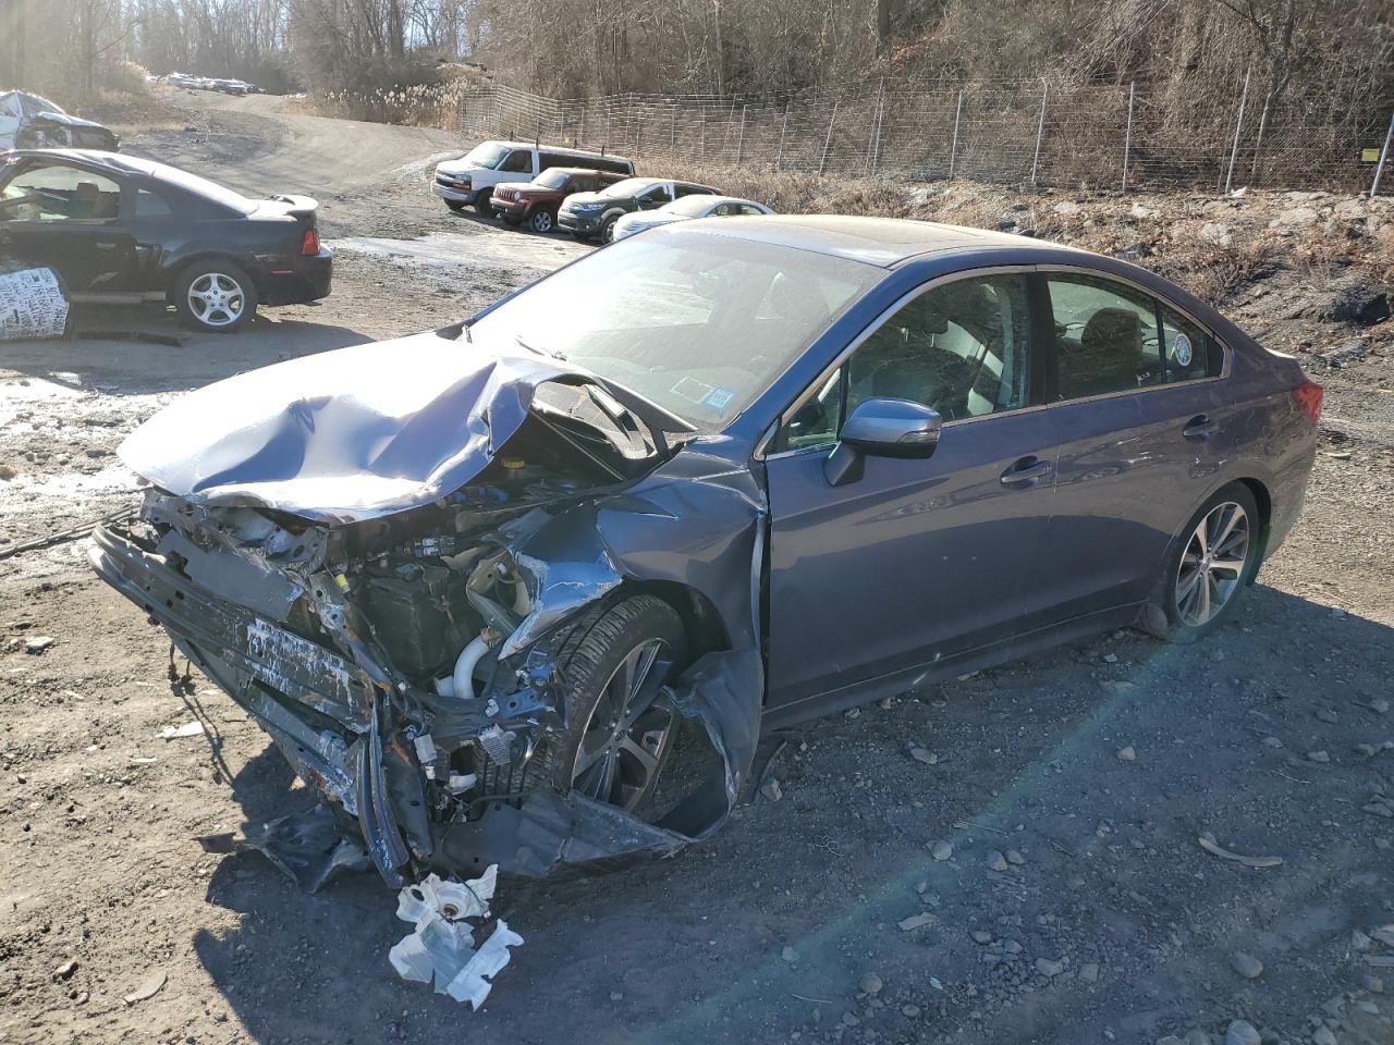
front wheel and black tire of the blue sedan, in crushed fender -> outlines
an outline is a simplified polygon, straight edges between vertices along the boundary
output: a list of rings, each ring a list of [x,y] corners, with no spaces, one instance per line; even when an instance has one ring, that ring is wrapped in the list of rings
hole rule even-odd
[[[683,621],[662,599],[637,595],[584,614],[558,658],[569,726],[552,783],[637,810],[654,793],[677,733],[677,712],[661,686],[686,659]]]

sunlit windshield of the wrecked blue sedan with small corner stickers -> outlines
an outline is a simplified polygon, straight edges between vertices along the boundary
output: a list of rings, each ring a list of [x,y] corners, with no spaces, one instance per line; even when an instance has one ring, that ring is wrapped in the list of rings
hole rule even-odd
[[[595,251],[470,330],[583,366],[714,432],[884,274],[845,258],[675,231]]]

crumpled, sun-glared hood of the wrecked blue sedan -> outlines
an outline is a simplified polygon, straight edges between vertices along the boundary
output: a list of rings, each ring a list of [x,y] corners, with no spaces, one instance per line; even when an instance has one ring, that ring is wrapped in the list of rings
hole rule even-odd
[[[496,346],[413,334],[191,392],[132,432],[120,456],[194,502],[351,522],[466,485],[521,426],[537,386],[556,379],[588,380]]]

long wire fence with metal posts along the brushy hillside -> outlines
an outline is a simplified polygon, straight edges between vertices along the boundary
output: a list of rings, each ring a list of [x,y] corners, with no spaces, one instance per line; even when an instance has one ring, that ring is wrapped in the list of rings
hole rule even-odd
[[[369,118],[612,152],[641,162],[645,173],[682,163],[1119,191],[1355,192],[1372,189],[1377,160],[1390,149],[1387,107],[1323,113],[1295,96],[1269,111],[1249,81],[1236,84],[1232,98],[1204,104],[1178,99],[1168,84],[1039,79],[955,88],[873,81],[788,98],[627,93],[576,102],[454,84],[339,100]]]

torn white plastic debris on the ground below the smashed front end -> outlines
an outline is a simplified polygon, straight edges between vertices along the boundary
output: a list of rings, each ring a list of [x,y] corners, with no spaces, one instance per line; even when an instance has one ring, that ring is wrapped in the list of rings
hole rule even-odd
[[[397,975],[418,984],[435,982],[436,993],[484,1005],[489,980],[509,963],[509,947],[523,938],[502,918],[484,945],[474,949],[468,918],[487,918],[499,868],[491,865],[468,882],[445,882],[428,875],[397,893],[397,917],[415,929],[388,952]]]

